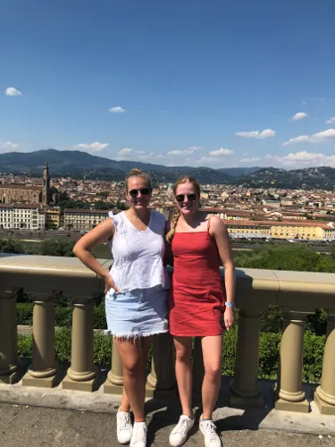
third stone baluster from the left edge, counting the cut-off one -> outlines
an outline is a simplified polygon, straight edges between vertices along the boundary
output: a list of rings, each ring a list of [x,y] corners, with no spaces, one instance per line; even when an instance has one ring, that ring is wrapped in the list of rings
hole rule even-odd
[[[93,392],[96,367],[93,357],[93,299],[73,299],[71,367],[63,380],[66,390]]]

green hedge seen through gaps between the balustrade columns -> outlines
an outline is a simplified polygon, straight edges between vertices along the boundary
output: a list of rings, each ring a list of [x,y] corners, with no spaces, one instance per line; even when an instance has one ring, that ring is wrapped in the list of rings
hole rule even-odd
[[[234,375],[236,343],[238,329],[232,328],[224,335],[222,375]],[[279,348],[281,334],[261,333],[259,350],[259,377],[275,379],[279,366]],[[304,382],[319,382],[322,373],[322,357],[325,336],[310,331],[305,333]],[[19,357],[30,358],[32,353],[31,337],[19,335]],[[55,356],[58,361],[71,359],[71,329],[61,328],[55,333]],[[112,338],[96,333],[94,337],[94,361],[98,365],[110,365],[112,362]],[[247,374],[247,365],[246,365]]]

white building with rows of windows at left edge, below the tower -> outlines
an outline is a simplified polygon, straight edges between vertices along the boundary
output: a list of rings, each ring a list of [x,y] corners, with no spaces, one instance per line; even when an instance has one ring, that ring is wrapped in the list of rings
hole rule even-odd
[[[0,228],[44,230],[46,228],[46,212],[35,204],[0,204]]]

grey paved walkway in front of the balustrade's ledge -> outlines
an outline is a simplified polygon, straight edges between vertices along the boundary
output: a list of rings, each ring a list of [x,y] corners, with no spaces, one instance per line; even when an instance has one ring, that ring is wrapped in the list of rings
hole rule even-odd
[[[172,426],[163,418],[149,424],[148,447],[168,447]],[[66,409],[0,404],[0,445],[5,447],[116,447],[115,416]],[[186,447],[204,446],[197,429]],[[224,447],[301,447],[335,446],[335,437],[312,434],[286,434],[275,431],[227,431]]]

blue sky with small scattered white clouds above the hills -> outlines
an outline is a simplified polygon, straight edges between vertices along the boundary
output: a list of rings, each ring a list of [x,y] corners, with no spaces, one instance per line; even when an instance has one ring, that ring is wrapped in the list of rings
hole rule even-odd
[[[335,166],[333,0],[3,0],[0,153]]]

